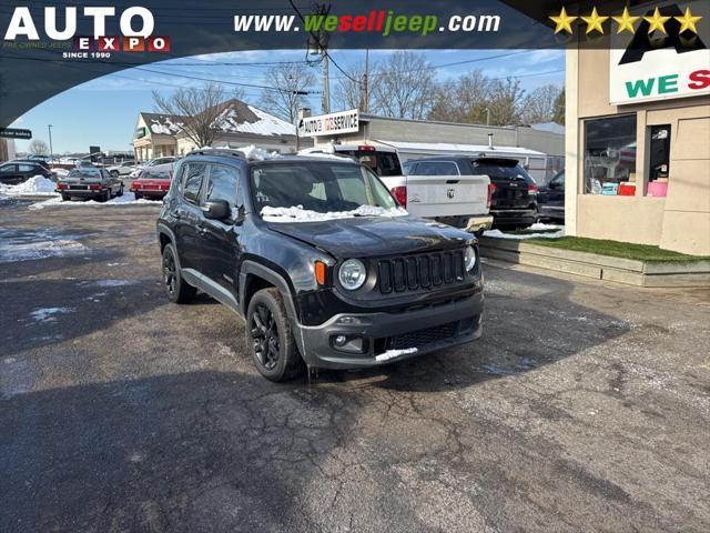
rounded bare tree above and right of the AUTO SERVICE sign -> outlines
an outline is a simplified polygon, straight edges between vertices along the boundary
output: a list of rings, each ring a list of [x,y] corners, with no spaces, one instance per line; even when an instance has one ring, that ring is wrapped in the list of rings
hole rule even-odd
[[[382,61],[371,76],[371,110],[398,119],[425,119],[434,102],[434,74],[424,54],[398,51]]]

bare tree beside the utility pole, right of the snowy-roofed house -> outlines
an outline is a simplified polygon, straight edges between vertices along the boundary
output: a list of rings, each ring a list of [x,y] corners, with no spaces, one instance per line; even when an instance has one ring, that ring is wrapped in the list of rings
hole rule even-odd
[[[307,104],[308,88],[315,83],[313,71],[301,64],[282,64],[268,69],[265,79],[276,90],[264,90],[261,108],[295,124],[298,108]]]

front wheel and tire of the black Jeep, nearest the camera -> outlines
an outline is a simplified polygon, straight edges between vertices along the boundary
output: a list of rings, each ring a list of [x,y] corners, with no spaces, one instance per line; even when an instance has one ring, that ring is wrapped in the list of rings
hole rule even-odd
[[[287,381],[303,371],[303,359],[278,289],[262,289],[248,302],[246,349],[258,373],[270,381]]]

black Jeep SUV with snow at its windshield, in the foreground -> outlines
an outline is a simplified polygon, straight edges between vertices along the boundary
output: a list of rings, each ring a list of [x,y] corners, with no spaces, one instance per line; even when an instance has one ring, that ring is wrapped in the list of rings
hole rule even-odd
[[[272,381],[303,362],[374,366],[480,336],[476,239],[408,215],[347,158],[192,152],[158,235],[171,301],[199,289],[244,318]]]

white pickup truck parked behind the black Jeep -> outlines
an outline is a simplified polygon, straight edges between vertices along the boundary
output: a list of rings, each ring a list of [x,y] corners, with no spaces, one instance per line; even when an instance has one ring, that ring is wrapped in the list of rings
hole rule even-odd
[[[487,175],[470,175],[455,157],[409,161],[407,172],[403,172],[397,151],[384,144],[331,144],[298,153],[336,153],[357,159],[379,175],[397,201],[416,217],[476,233],[493,225],[490,180]]]

